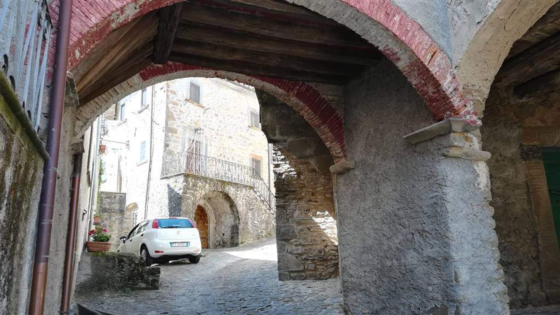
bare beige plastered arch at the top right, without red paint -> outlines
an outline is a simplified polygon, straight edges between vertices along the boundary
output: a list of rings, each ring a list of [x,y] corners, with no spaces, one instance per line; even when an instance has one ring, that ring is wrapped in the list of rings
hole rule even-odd
[[[502,0],[470,39],[458,63],[457,75],[474,102],[475,111],[484,111],[490,86],[511,45],[557,1]]]

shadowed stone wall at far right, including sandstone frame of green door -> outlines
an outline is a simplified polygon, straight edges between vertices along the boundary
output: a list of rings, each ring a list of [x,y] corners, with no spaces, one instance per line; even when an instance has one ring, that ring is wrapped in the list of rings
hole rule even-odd
[[[486,104],[481,132],[484,149],[492,153],[491,205],[510,306],[558,303],[560,254],[554,238],[549,244],[543,240],[551,229],[554,235],[553,227],[544,226],[551,221],[550,201],[548,195],[543,201],[531,195],[531,188],[538,182],[539,190],[548,192],[540,148],[560,146],[560,98],[548,94],[523,101],[510,89],[494,87]]]

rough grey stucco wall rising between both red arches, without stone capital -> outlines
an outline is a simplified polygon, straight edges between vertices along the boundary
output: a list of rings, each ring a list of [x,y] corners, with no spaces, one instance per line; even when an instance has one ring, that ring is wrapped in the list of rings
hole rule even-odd
[[[347,313],[506,314],[483,163],[443,157],[444,137],[402,139],[433,120],[388,61],[349,83],[345,104],[356,168],[335,196]]]

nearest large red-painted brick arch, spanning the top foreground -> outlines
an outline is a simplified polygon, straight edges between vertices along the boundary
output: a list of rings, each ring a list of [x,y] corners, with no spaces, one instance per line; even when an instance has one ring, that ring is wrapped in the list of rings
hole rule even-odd
[[[58,11],[58,1],[52,2],[53,11]],[[115,28],[178,1],[74,2],[68,68],[80,63]],[[469,118],[473,124],[479,123],[473,103],[461,92],[449,58],[417,22],[390,0],[286,1],[332,18],[379,47],[408,78],[437,120],[459,116]]]

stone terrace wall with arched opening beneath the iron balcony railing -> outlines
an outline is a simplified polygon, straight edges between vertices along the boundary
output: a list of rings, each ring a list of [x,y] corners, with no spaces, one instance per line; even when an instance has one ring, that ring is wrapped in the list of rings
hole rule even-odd
[[[162,179],[151,191],[148,217],[193,219],[197,206],[202,206],[208,214],[210,248],[274,234],[273,211],[249,185],[184,174]]]

